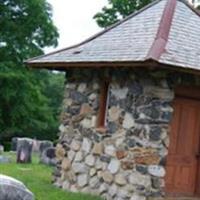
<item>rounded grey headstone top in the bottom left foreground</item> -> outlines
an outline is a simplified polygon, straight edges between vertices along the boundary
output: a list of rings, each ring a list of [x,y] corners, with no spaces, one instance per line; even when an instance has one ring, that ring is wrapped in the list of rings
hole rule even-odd
[[[26,186],[11,177],[0,175],[0,200],[34,200]]]

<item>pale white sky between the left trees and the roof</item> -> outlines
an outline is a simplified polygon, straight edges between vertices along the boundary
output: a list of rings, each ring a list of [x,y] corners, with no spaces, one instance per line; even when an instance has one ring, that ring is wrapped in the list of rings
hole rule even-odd
[[[93,16],[107,5],[107,0],[47,0],[53,7],[53,21],[60,33],[56,49],[77,44],[101,29]],[[45,52],[55,49],[47,48]]]

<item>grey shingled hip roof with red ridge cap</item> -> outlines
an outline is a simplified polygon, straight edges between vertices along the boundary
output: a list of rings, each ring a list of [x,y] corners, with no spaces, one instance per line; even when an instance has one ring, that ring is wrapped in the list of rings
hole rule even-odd
[[[78,45],[26,63],[67,69],[147,62],[200,70],[200,15],[186,2],[155,1]]]

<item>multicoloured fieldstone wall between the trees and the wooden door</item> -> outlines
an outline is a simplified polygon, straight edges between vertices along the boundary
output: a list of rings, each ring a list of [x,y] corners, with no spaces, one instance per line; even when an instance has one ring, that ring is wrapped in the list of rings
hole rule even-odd
[[[96,120],[105,77],[110,86],[106,131],[102,131],[96,129]],[[161,197],[173,112],[172,85],[166,72],[67,72],[55,185],[107,200]]]

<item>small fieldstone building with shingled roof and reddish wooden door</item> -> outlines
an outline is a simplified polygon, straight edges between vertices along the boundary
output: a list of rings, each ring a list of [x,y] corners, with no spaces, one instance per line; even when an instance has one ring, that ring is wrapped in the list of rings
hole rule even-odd
[[[107,200],[200,194],[199,27],[186,2],[159,0],[27,61],[66,71],[57,186]]]

